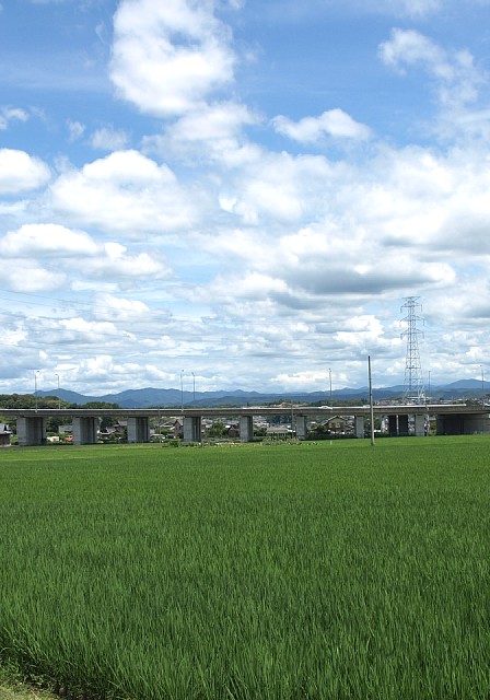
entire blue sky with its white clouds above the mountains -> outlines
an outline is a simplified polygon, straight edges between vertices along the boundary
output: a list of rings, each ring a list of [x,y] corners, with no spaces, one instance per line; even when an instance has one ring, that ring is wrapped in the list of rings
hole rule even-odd
[[[490,0],[0,0],[0,392],[490,378]]]

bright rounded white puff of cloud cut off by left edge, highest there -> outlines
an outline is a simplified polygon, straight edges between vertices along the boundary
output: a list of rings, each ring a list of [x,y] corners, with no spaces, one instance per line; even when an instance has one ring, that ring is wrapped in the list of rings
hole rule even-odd
[[[38,189],[50,179],[48,166],[25,151],[0,149],[0,194],[16,195]]]

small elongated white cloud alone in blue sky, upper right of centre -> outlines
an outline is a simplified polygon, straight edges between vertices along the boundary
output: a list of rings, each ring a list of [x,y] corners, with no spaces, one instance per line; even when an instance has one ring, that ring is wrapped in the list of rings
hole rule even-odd
[[[342,109],[330,109],[319,117],[304,117],[300,121],[291,121],[280,115],[272,119],[272,125],[278,133],[302,143],[316,143],[326,136],[352,140],[365,140],[371,136],[369,127],[359,124]]]

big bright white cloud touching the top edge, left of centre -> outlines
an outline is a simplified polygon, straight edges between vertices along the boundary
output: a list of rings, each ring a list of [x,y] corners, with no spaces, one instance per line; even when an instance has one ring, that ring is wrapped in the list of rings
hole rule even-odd
[[[110,78],[121,97],[156,116],[187,113],[233,79],[230,31],[213,3],[122,0]]]

